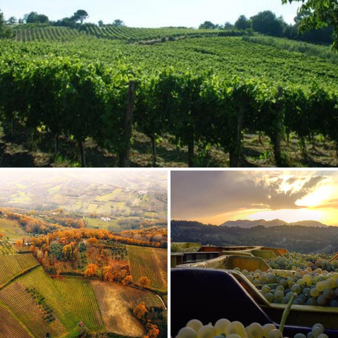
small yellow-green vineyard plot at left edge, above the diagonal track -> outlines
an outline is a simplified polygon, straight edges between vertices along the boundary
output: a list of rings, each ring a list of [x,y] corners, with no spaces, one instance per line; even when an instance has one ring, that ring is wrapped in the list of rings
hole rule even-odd
[[[39,265],[32,253],[0,256],[0,285]]]

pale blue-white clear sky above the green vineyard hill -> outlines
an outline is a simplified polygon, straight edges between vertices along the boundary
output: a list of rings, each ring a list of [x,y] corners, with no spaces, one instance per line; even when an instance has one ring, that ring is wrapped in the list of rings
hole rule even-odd
[[[84,9],[92,23],[120,19],[129,27],[199,27],[206,20],[223,25],[234,23],[239,15],[250,18],[265,10],[293,23],[298,6],[297,2],[282,5],[282,0],[2,0],[0,10],[6,19],[35,11],[58,20]]]

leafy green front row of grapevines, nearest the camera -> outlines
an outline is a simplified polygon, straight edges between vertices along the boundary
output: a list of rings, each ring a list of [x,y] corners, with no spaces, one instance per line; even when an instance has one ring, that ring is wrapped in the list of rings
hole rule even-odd
[[[337,92],[315,82],[274,87],[255,78],[195,75],[171,68],[149,76],[131,65],[66,57],[2,61],[2,120],[5,127],[13,121],[25,125],[32,136],[42,131],[52,135],[56,151],[61,135],[75,139],[80,151],[84,140],[92,137],[121,158],[129,142],[125,111],[130,80],[138,84],[132,106],[139,130],[152,139],[153,149],[159,135],[175,136],[178,144],[188,146],[191,166],[196,144],[218,144],[229,152],[230,166],[239,165],[244,131],[270,137],[277,165],[283,165],[284,133],[296,132],[302,140],[323,134],[338,151]]]

